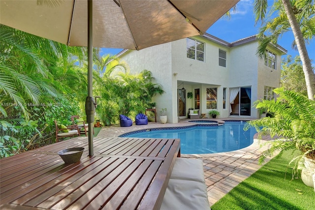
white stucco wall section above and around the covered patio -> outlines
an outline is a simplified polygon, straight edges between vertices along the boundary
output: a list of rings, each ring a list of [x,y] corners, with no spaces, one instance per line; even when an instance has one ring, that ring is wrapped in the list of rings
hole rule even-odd
[[[222,46],[201,36],[192,37],[205,43],[204,61],[197,61],[187,58],[186,38],[172,42],[172,72],[177,73],[173,82],[187,81],[185,85],[186,93],[194,92],[194,89],[200,89],[200,113],[208,113],[210,109],[206,107],[206,90],[210,87],[217,87],[218,104],[217,109],[221,112],[220,117],[227,117],[227,109],[223,110],[223,87],[228,87],[228,64],[227,67],[219,66],[219,48],[228,51],[229,47]],[[188,82],[198,83],[189,85]],[[177,82],[176,82],[177,84]],[[182,87],[182,86],[181,86]],[[181,88],[179,87],[179,88]],[[177,86],[173,86],[173,91],[177,91]],[[177,96],[174,95],[174,101],[177,104]],[[194,99],[187,99],[186,111],[189,107],[194,107]]]

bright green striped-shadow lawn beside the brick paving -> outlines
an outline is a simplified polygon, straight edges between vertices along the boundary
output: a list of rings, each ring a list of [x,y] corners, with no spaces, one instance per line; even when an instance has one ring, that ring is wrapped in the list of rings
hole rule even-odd
[[[292,152],[276,156],[214,204],[212,210],[315,210],[314,188],[292,180]]]

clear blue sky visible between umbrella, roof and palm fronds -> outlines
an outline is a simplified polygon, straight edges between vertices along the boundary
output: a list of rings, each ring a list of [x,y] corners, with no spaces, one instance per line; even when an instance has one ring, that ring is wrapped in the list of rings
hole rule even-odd
[[[259,32],[260,24],[255,26],[253,15],[253,0],[240,0],[236,4],[236,12],[231,12],[231,18],[221,18],[214,23],[207,33],[217,36],[227,42],[233,42],[251,35],[256,35]],[[268,1],[269,5],[272,5],[273,1]],[[291,48],[291,44],[294,40],[292,32],[286,32],[278,40],[278,44],[287,50],[287,55],[291,55],[294,58],[298,55],[298,51]],[[313,60],[313,67],[315,66],[315,40],[312,40],[310,45],[307,45],[308,54],[311,60]],[[104,54],[117,54],[122,49],[109,49],[102,48]],[[283,58],[286,55],[283,56]]]

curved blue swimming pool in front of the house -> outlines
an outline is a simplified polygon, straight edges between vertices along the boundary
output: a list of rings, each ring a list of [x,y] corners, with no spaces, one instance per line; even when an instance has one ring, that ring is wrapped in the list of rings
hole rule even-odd
[[[228,152],[252,144],[254,128],[244,131],[245,122],[225,122],[222,126],[194,125],[176,128],[157,128],[121,135],[121,137],[181,139],[182,154]]]

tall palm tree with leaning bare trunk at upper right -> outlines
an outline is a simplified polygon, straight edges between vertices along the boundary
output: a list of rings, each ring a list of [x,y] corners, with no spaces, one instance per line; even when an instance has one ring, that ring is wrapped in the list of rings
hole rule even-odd
[[[292,6],[293,5],[293,6]],[[274,19],[266,22],[260,29],[257,37],[260,39],[257,55],[265,57],[266,47],[269,43],[277,46],[277,40],[283,33],[292,30],[294,43],[301,57],[303,72],[306,80],[308,97],[315,100],[315,73],[305,46],[305,40],[315,35],[315,2],[314,0],[276,0],[270,13],[278,10],[279,14]],[[267,0],[254,1],[255,22],[259,20],[264,23],[267,10]],[[265,35],[268,33],[268,35]]]

